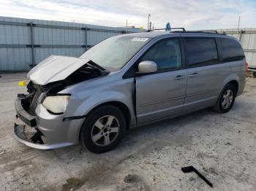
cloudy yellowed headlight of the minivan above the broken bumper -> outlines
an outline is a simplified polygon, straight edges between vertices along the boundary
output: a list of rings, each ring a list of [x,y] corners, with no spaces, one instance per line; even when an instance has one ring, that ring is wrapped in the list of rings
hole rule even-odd
[[[47,96],[42,102],[42,105],[53,114],[62,114],[67,109],[69,104],[70,95],[53,95]]]

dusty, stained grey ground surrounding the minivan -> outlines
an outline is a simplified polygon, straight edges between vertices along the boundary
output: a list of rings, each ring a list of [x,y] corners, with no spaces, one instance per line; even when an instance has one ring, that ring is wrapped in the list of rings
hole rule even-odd
[[[227,114],[206,109],[137,128],[105,154],[42,151],[12,136],[25,74],[0,74],[0,190],[256,190],[256,79]],[[194,165],[213,184],[183,174]]]

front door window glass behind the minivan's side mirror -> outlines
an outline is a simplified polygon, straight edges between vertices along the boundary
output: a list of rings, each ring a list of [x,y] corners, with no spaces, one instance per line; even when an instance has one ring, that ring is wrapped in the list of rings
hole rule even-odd
[[[178,39],[166,39],[151,47],[140,61],[154,61],[158,71],[170,71],[181,68],[181,51]]]

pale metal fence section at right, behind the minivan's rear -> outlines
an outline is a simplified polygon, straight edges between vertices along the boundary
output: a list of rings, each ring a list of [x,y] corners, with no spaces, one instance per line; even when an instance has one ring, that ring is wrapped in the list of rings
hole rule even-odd
[[[246,55],[246,61],[250,70],[256,71],[256,28],[229,28],[219,29],[218,32],[225,32],[240,40]]]

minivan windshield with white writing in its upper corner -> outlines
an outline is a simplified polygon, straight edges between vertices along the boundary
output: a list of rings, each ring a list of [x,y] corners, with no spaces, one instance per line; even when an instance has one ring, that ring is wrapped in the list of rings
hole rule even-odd
[[[118,71],[149,40],[135,36],[113,36],[91,47],[80,58],[87,58],[108,71]]]

